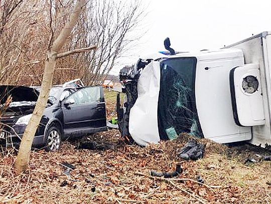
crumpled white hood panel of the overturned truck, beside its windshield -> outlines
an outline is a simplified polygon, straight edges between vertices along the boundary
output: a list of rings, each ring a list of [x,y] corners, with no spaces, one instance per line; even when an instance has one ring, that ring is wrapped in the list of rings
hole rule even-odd
[[[159,90],[160,63],[153,61],[139,78],[138,98],[129,115],[129,132],[139,145],[160,141],[157,118]]]

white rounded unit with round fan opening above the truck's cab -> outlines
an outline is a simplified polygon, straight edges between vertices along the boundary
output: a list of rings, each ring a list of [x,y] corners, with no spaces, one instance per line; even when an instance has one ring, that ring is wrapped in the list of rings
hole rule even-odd
[[[234,68],[235,121],[242,126],[264,125],[264,109],[258,64]]]

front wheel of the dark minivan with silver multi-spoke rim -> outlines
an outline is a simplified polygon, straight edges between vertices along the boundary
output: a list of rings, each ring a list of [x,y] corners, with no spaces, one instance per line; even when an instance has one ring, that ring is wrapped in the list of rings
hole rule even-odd
[[[51,126],[45,135],[45,150],[57,151],[61,146],[61,131],[57,126]]]

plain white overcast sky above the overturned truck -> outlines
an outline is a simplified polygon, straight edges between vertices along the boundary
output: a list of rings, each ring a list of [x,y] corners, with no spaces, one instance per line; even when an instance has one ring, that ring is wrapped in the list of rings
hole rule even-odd
[[[270,0],[143,0],[148,16],[142,22],[148,32],[121,58],[111,74],[118,75],[140,55],[164,51],[170,38],[175,51],[219,49],[252,34],[271,31]]]

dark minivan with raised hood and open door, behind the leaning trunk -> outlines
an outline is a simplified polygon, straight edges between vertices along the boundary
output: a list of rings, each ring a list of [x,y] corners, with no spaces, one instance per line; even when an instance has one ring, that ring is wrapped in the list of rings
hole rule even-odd
[[[81,82],[79,80],[79,82]],[[1,106],[12,102],[0,118],[0,144],[18,146],[32,116],[40,87],[0,86]],[[65,137],[106,131],[106,112],[102,87],[84,87],[78,80],[51,88],[47,106],[36,131],[33,147],[48,151],[60,148]]]

